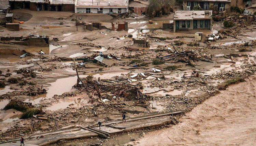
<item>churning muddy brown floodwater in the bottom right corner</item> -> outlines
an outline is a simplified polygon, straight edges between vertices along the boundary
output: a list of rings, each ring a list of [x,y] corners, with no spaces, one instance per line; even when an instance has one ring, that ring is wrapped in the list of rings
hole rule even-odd
[[[249,146],[256,143],[256,76],[195,107],[182,123],[147,133],[137,146]],[[134,143],[132,144],[134,145]]]

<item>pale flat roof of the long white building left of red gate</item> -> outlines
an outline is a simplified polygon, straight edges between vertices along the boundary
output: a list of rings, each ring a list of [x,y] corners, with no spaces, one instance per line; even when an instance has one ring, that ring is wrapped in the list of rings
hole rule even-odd
[[[87,7],[128,7],[129,0],[76,0],[75,6]]]

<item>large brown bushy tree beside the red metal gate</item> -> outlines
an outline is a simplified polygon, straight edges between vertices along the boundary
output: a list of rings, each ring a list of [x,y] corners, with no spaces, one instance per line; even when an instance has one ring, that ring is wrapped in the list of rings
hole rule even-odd
[[[172,7],[175,5],[175,0],[149,0],[147,7],[147,15],[153,17],[161,17],[169,14]]]

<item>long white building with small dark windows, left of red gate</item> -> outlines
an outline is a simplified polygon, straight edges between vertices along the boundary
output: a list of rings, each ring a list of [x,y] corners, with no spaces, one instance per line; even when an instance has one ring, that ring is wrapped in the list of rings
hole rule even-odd
[[[75,13],[121,14],[128,5],[129,0],[75,0]]]

